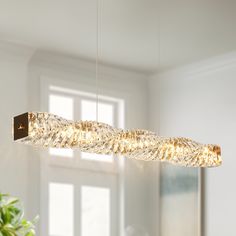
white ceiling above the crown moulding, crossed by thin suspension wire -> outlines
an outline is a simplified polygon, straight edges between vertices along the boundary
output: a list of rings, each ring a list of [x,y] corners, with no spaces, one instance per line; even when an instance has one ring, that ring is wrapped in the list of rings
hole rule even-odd
[[[157,70],[159,32],[159,69],[236,49],[236,0],[100,1],[105,63]],[[0,0],[0,40],[94,59],[96,0]]]

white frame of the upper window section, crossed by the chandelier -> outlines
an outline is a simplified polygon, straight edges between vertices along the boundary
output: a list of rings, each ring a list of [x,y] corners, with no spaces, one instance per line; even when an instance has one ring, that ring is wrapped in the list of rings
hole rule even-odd
[[[69,86],[68,86],[69,85]],[[78,86],[78,84],[76,84]],[[65,97],[71,97],[69,94],[76,96],[77,99],[75,102],[74,107],[79,108],[82,99],[85,100],[96,100],[96,95],[91,92],[84,92],[82,89],[88,88],[82,88],[80,86],[80,90],[72,89],[76,88],[74,83],[67,83],[67,87],[64,89],[61,89],[63,86],[65,86],[64,82],[61,80],[54,80],[47,77],[42,77],[41,79],[41,110],[42,111],[48,111],[48,98],[51,92],[55,95],[63,95]],[[89,91],[89,90],[88,90]],[[99,96],[99,102],[104,102],[107,104],[111,104],[114,107],[114,126],[123,128],[124,127],[124,121],[120,121],[118,118],[118,114],[123,113],[123,107],[124,107],[124,101],[119,98],[111,98],[109,96]],[[77,103],[77,104],[76,104]],[[74,116],[80,117],[80,109],[74,110]],[[113,158],[112,162],[102,162],[102,165],[99,165],[99,161],[89,161],[89,160],[83,160],[80,155],[80,151],[78,149],[74,149],[74,157],[75,158],[67,158],[67,157],[59,157],[58,156],[52,156],[49,154],[48,150],[43,150],[43,156],[44,160],[49,162],[47,164],[52,166],[62,166],[62,167],[71,167],[71,168],[80,168],[80,169],[87,169],[87,170],[93,170],[93,171],[100,171],[100,172],[111,172],[111,173],[118,173],[119,169],[119,159]],[[79,157],[79,158],[78,158]]]

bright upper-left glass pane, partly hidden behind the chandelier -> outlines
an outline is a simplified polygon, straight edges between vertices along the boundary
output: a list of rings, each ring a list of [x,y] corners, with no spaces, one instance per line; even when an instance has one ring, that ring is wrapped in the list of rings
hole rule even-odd
[[[65,119],[73,120],[73,98],[51,94],[49,96],[49,112]],[[50,148],[49,153],[55,156],[73,157],[73,151],[70,149]]]

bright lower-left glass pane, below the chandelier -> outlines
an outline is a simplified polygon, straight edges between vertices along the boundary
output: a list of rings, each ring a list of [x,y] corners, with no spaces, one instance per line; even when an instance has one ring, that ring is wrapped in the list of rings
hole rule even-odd
[[[74,188],[71,184],[49,184],[49,234],[73,236]]]

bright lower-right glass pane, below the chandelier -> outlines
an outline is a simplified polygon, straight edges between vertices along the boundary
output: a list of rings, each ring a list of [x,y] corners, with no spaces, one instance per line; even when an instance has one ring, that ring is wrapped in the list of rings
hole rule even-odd
[[[82,187],[82,236],[110,235],[110,190]]]

